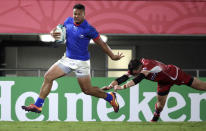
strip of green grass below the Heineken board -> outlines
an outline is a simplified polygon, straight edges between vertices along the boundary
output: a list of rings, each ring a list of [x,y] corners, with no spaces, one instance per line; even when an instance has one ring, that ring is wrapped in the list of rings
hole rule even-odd
[[[0,122],[0,131],[206,131],[206,122]]]

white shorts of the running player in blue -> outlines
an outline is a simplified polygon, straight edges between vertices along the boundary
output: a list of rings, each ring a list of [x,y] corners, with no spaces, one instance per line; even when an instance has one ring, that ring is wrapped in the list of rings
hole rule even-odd
[[[77,77],[90,75],[90,60],[75,60],[63,56],[60,60],[56,62],[56,64],[66,74],[69,74],[70,72],[74,71]]]

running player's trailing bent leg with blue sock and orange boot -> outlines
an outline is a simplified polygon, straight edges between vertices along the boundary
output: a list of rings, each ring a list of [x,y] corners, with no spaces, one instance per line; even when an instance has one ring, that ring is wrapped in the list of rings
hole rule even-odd
[[[107,100],[114,108],[115,112],[119,111],[119,104],[116,100],[116,94],[111,93],[105,93],[103,90],[101,90],[98,87],[94,87],[91,85],[91,78],[90,76],[84,76],[84,77],[78,77],[79,85],[82,89],[82,91],[87,95],[92,95],[98,98],[104,98]]]

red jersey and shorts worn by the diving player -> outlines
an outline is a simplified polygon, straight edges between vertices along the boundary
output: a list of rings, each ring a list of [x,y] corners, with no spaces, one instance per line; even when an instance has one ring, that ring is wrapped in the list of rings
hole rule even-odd
[[[140,59],[140,62],[142,63],[142,70],[150,72],[146,79],[158,82],[157,91],[159,95],[168,94],[174,84],[191,85],[193,81],[192,76],[186,74],[175,65],[166,65],[162,62],[145,58]]]

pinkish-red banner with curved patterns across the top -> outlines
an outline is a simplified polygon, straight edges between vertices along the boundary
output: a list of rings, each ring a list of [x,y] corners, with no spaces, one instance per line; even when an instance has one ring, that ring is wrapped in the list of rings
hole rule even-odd
[[[5,0],[0,33],[48,33],[82,3],[86,19],[100,33],[206,34],[204,0]]]

